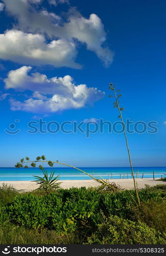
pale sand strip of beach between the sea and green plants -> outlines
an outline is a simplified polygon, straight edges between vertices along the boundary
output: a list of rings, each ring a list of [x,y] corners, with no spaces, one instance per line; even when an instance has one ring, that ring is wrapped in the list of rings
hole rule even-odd
[[[133,189],[133,180],[132,179],[110,179],[110,182],[115,182],[120,185],[124,189]],[[155,186],[157,184],[166,184],[163,181],[153,180],[151,178],[147,179],[136,179],[137,187],[144,188],[145,184],[150,186]],[[31,181],[0,181],[0,186],[2,184],[8,184],[13,186],[18,191],[31,191],[37,188],[37,184]],[[97,187],[99,183],[94,180],[63,180],[61,183],[62,188],[70,188],[70,187]]]

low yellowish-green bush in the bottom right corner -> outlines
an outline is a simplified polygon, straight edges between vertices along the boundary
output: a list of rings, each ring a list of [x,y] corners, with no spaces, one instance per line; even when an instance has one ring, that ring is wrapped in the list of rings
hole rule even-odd
[[[98,225],[88,238],[88,244],[165,244],[166,233],[161,234],[145,223],[110,216]]]

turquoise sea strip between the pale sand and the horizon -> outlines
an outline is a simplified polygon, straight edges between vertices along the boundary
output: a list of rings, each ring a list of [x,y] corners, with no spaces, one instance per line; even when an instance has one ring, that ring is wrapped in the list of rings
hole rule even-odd
[[[109,177],[112,179],[120,179],[120,174],[122,179],[131,178],[131,169],[130,167],[79,167],[85,172],[93,175],[96,178],[103,177],[104,179],[108,179]],[[46,168],[48,173],[52,170],[55,171],[55,175],[60,174],[61,180],[87,180],[91,179],[85,174],[79,172],[79,170],[75,170],[73,168]],[[144,174],[144,178],[152,178],[153,170],[155,173],[155,178],[161,178],[163,173],[166,173],[166,167],[134,167],[134,173],[136,176],[136,172],[138,169],[139,178]],[[39,168],[12,168],[12,167],[1,167],[0,168],[0,181],[12,181],[12,180],[34,180],[33,175],[42,176],[41,169]]]

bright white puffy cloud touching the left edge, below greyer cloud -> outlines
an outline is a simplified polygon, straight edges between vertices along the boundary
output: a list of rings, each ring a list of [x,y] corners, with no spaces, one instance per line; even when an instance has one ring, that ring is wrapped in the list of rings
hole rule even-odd
[[[45,42],[40,34],[9,30],[0,34],[0,58],[26,65],[53,65],[80,68],[74,61],[77,50],[73,42],[65,39]]]

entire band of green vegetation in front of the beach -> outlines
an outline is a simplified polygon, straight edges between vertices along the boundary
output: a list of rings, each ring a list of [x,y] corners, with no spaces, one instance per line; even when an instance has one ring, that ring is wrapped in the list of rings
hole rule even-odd
[[[0,189],[1,244],[165,244],[166,185],[134,190]],[[8,193],[8,197],[6,196]]]

